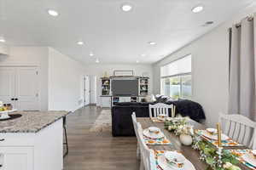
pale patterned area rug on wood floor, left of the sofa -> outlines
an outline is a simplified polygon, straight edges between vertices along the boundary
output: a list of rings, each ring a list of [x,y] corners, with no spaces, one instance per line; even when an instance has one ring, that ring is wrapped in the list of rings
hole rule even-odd
[[[102,110],[96,122],[90,127],[90,132],[102,133],[112,131],[111,110]]]

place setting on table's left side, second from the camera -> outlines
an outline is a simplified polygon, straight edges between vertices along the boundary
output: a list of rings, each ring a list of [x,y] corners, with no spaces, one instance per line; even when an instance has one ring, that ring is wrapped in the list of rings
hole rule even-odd
[[[145,144],[169,145],[172,144],[159,127],[148,127],[143,130]]]

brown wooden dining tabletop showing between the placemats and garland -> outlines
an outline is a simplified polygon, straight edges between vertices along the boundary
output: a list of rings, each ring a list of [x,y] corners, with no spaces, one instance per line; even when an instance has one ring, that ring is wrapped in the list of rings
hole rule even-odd
[[[159,127],[161,132],[166,135],[166,138],[171,141],[172,144],[159,144],[151,145],[148,144],[148,148],[152,150],[166,150],[166,151],[179,151],[183,154],[195,167],[196,170],[211,170],[212,168],[209,165],[200,159],[199,150],[195,150],[192,146],[186,146],[181,144],[178,136],[175,133],[169,132],[164,125],[164,122],[153,122],[148,117],[137,117],[137,122],[140,122],[143,129],[148,127]],[[191,119],[188,119],[188,123],[194,127],[194,129],[206,129],[204,124],[195,122]],[[249,170],[250,168],[244,166],[243,164],[237,165],[241,170]]]

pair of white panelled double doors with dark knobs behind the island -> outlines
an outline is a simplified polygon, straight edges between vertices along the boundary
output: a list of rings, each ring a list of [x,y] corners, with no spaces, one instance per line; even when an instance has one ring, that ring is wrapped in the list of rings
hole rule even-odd
[[[36,67],[1,67],[0,100],[19,111],[38,111],[38,69]]]

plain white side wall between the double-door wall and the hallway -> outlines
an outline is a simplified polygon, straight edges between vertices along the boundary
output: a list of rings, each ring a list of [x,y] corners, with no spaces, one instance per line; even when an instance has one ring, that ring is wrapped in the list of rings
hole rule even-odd
[[[83,105],[84,65],[49,48],[49,110],[75,111]]]

